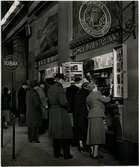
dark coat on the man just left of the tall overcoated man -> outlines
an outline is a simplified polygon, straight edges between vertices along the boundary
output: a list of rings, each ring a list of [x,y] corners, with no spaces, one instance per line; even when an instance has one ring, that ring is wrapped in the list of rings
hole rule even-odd
[[[26,104],[27,125],[29,127],[40,127],[42,124],[42,110],[40,97],[36,90],[30,89],[27,91]]]

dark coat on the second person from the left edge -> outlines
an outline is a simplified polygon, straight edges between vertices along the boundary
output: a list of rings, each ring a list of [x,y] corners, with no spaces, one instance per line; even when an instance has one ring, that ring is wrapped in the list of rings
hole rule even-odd
[[[18,91],[18,110],[19,114],[26,115],[26,90],[22,87]]]

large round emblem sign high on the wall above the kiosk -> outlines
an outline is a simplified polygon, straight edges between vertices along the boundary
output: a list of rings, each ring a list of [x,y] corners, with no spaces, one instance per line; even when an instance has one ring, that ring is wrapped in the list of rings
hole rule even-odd
[[[84,2],[79,10],[79,21],[86,33],[93,37],[102,37],[111,27],[111,15],[102,2]]]

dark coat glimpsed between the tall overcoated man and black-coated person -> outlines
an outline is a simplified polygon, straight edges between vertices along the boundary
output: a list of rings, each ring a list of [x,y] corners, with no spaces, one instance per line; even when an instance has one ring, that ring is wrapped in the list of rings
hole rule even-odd
[[[70,112],[74,112],[74,100],[79,88],[76,85],[71,85],[66,89],[66,97],[70,105]]]

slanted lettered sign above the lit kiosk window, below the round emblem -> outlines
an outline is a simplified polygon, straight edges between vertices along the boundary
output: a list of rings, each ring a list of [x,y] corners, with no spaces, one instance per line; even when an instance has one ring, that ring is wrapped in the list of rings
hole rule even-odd
[[[97,49],[97,48],[103,47],[107,44],[116,42],[118,40],[119,40],[119,32],[117,32],[115,34],[110,34],[108,36],[102,37],[100,39],[97,39],[97,40],[92,41],[90,43],[86,43],[82,46],[79,46],[79,47],[73,49],[73,56],[87,52],[87,51],[92,50],[92,49]]]

